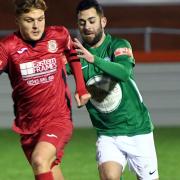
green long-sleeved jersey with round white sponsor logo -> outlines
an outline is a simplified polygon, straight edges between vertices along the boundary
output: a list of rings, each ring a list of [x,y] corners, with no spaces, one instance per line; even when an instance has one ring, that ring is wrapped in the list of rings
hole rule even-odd
[[[134,136],[151,132],[149,112],[133,77],[135,60],[130,43],[107,34],[99,47],[84,47],[95,58],[92,64],[81,59],[81,64],[92,95],[86,107],[97,134]]]

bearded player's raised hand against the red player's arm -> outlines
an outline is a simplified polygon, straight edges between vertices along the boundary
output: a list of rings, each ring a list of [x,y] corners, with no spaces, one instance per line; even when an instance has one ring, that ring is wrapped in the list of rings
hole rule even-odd
[[[89,63],[94,62],[94,56],[80,43],[77,38],[74,38],[74,45],[76,47],[76,51],[78,53],[79,58],[84,58]]]

